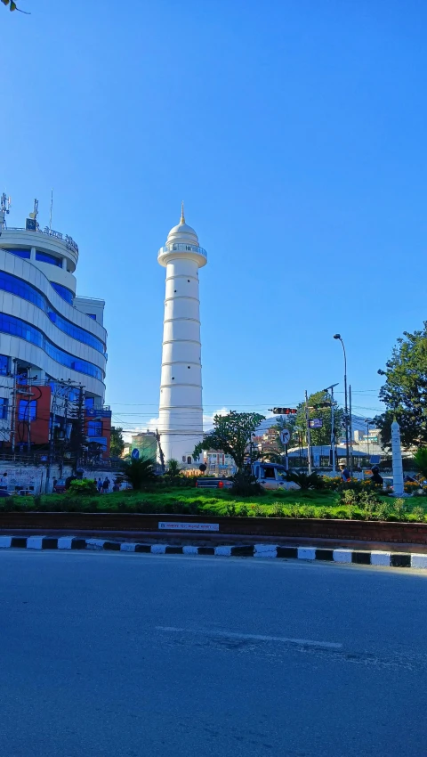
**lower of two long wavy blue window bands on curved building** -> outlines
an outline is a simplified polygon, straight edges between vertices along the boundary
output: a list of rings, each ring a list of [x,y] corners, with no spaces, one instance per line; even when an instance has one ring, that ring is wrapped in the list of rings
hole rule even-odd
[[[78,370],[80,373],[86,373],[87,376],[93,376],[93,378],[98,378],[100,381],[104,378],[101,368],[93,365],[92,362],[76,360],[72,354],[64,352],[60,347],[53,345],[51,340],[45,337],[42,331],[39,331],[25,321],[21,321],[20,318],[0,313],[0,331],[3,331],[4,334],[12,334],[14,337],[26,339],[31,344],[41,347],[49,357],[52,357],[52,360],[59,362],[60,365],[65,365],[72,370]]]

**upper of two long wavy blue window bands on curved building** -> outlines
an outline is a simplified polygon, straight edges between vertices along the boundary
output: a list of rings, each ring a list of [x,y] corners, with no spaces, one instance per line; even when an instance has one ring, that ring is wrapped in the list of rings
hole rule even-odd
[[[66,318],[63,318],[60,313],[54,313],[50,309],[46,297],[44,297],[38,289],[31,286],[31,284],[22,281],[22,279],[19,279],[17,276],[12,276],[12,273],[0,271],[0,289],[3,289],[5,292],[11,292],[18,297],[22,297],[23,299],[28,300],[28,302],[32,302],[33,305],[44,310],[44,313],[47,313],[52,323],[58,326],[58,329],[63,331],[64,334],[68,334],[68,337],[77,339],[77,341],[83,342],[84,345],[93,347],[93,349],[98,350],[98,352],[105,354],[105,347],[102,344],[101,339],[94,337],[89,331],[85,331],[85,329],[81,329],[75,323],[71,323]]]

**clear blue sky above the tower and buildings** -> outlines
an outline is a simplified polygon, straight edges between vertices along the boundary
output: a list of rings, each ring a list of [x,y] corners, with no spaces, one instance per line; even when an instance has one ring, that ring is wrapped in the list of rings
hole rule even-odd
[[[1,189],[79,244],[105,297],[107,402],[156,416],[180,215],[201,272],[205,411],[341,381],[372,415],[426,281],[427,7],[415,0],[20,0],[0,12]],[[3,8],[3,6],[2,6]],[[338,395],[341,400],[342,395]]]

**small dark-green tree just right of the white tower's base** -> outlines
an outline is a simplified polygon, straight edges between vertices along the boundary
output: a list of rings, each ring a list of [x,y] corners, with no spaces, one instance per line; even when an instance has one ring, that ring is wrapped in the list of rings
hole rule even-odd
[[[222,450],[230,455],[238,470],[245,465],[246,448],[264,416],[258,412],[237,412],[228,415],[214,415],[214,428],[205,435],[203,442],[196,445],[193,452],[198,457],[202,450]]]

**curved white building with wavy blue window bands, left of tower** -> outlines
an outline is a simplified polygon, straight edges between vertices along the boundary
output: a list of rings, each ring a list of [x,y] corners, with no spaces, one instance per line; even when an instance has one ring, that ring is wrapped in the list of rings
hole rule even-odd
[[[52,393],[64,382],[83,387],[85,406],[102,409],[107,332],[104,301],[76,295],[76,242],[42,231],[33,218],[24,229],[1,221],[0,441],[7,441],[12,405],[19,410],[11,397],[17,377],[20,385],[50,386]]]

